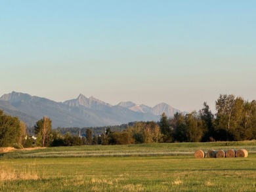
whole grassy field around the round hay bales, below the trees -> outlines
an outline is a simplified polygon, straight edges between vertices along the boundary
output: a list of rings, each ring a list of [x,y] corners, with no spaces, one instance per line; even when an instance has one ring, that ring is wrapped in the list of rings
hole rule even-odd
[[[195,159],[196,149],[247,158]],[[256,191],[256,142],[51,147],[0,155],[0,191]]]

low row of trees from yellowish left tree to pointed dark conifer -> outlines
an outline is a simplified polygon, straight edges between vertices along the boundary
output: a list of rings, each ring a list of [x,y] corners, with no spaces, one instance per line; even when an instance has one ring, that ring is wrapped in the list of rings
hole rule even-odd
[[[60,133],[51,129],[51,120],[44,117],[34,126],[37,140],[35,145],[42,147],[73,146],[73,145],[121,145],[162,142],[158,123],[137,122],[123,131],[106,128],[102,134],[93,135],[93,130],[87,128],[84,136]]]

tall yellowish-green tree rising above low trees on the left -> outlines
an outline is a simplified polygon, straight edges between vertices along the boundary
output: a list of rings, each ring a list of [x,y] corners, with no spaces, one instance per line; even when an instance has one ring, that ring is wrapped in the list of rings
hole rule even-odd
[[[51,145],[52,137],[52,121],[48,117],[44,116],[43,119],[37,121],[35,128],[35,134],[37,135],[37,144],[42,147],[48,147]],[[40,144],[41,143],[41,144]]]

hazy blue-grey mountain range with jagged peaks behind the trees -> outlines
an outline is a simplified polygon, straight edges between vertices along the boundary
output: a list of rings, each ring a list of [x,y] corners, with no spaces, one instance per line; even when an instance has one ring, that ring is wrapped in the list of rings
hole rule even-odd
[[[66,102],[54,102],[21,92],[11,92],[1,96],[0,110],[18,117],[27,126],[34,126],[38,119],[46,115],[53,121],[53,127],[106,126],[132,121],[159,121],[163,112],[168,117],[181,112],[164,103],[148,107],[133,102],[120,102],[112,106],[82,94]]]

